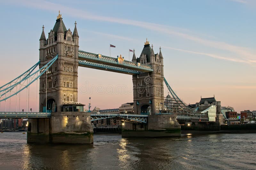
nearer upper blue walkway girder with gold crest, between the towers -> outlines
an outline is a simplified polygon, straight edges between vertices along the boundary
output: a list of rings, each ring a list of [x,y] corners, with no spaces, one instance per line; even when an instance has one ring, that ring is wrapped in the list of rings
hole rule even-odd
[[[124,68],[124,69],[136,70],[136,71],[140,71],[140,72],[152,72],[153,71],[151,65],[133,63],[131,61],[126,61],[123,59],[119,61],[118,58],[108,57],[108,56],[100,55],[100,54],[89,53],[89,52],[85,52],[82,50],[78,51],[78,59],[86,60],[87,62],[92,62],[92,63],[100,63],[100,64],[116,66],[116,67]]]

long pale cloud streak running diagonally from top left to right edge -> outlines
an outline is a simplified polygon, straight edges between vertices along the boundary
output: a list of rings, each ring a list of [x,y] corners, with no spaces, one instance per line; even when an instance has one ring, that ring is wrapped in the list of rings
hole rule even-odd
[[[235,1],[240,2],[240,3],[243,3],[243,2],[246,3],[250,0],[235,0]],[[211,48],[225,50],[225,51],[228,51],[229,53],[234,54],[234,56],[237,56],[240,59],[226,58],[226,57],[220,57],[218,55],[202,53],[204,55],[207,54],[208,56],[212,56],[214,58],[227,59],[229,61],[235,61],[235,62],[241,62],[241,63],[255,63],[254,59],[255,59],[256,55],[252,52],[252,49],[235,46],[232,44],[228,44],[226,42],[211,41],[211,40],[203,39],[203,38],[200,38],[197,36],[190,35],[188,33],[184,33],[181,31],[182,29],[177,31],[176,29],[174,29],[171,26],[159,25],[159,24],[155,24],[155,23],[148,23],[148,22],[136,21],[136,20],[130,20],[130,19],[94,15],[94,14],[88,13],[86,11],[82,11],[82,10],[75,9],[75,8],[70,8],[67,6],[63,6],[61,4],[54,4],[51,2],[47,2],[47,1],[32,1],[32,0],[17,1],[17,0],[15,0],[15,1],[10,1],[10,2],[6,2],[6,3],[19,4],[19,5],[23,5],[26,7],[32,7],[32,8],[37,8],[37,9],[42,9],[42,10],[47,10],[47,11],[54,11],[54,12],[56,11],[56,6],[58,6],[63,11],[63,13],[65,13],[66,15],[76,17],[76,18],[119,23],[119,24],[124,24],[124,25],[131,25],[131,26],[138,26],[138,27],[153,30],[156,32],[174,35],[174,36],[177,36],[177,37],[189,40],[189,41],[193,41],[193,42],[196,42],[196,43],[199,43],[201,45],[208,46]]]

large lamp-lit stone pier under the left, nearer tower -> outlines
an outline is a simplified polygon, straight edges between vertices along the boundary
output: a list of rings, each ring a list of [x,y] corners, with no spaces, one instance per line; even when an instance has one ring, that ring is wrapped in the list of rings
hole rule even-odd
[[[90,113],[53,112],[51,118],[28,119],[28,143],[91,144]]]

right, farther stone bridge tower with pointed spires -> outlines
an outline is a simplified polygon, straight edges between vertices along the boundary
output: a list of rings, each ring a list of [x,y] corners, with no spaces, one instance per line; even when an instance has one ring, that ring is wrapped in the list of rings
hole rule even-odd
[[[149,41],[144,43],[140,57],[134,52],[132,62],[152,65],[153,72],[132,76],[134,114],[155,114],[164,108],[164,63],[161,48],[155,54]]]

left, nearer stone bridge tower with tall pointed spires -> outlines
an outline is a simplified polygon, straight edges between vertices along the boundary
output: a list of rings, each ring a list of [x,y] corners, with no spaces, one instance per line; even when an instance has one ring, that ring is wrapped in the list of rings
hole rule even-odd
[[[77,102],[78,40],[76,22],[72,34],[70,29],[66,29],[60,11],[53,29],[48,33],[47,40],[43,26],[40,37],[39,67],[43,67],[57,54],[59,57],[47,71],[47,82],[46,73],[40,77],[40,112],[45,112],[46,105],[48,112],[60,112],[62,104]]]

